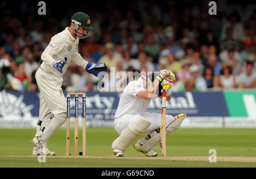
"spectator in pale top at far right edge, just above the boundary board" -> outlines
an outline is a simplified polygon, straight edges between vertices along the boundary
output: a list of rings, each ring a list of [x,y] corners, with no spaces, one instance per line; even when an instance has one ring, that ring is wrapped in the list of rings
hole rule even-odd
[[[240,88],[256,88],[256,72],[253,62],[247,61],[245,72],[239,75]]]

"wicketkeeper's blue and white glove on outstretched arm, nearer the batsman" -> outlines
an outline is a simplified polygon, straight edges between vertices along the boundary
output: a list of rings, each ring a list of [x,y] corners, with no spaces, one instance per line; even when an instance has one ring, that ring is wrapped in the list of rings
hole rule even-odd
[[[86,65],[86,71],[88,73],[94,74],[94,76],[99,77],[99,78],[103,78],[105,76],[107,69],[108,69],[108,67],[106,66],[106,64],[104,62],[102,62],[100,64],[94,64],[94,63],[89,62]]]

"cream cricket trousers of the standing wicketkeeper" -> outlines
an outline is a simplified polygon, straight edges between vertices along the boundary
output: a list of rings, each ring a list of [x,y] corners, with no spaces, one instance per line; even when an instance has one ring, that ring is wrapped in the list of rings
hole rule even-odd
[[[40,90],[39,120],[43,120],[48,113],[53,116],[67,113],[67,101],[61,89],[63,78],[46,73],[41,68],[36,71],[35,78]]]

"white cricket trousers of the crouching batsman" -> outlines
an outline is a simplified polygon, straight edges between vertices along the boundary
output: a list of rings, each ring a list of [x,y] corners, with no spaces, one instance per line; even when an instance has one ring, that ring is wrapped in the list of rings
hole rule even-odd
[[[149,113],[144,112],[142,114],[125,114],[121,116],[121,118],[115,119],[114,128],[118,134],[121,132],[133,121],[138,119],[138,117],[142,116],[146,118],[151,124],[150,127],[144,133],[152,132],[160,128],[162,114],[159,113]],[[166,114],[166,127],[174,122],[174,116]]]

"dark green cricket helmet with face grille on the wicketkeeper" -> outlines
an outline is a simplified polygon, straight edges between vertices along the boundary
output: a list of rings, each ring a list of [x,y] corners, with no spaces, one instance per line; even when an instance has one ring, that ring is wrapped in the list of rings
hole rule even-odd
[[[85,13],[82,13],[82,12],[75,13],[71,17],[70,21],[72,22],[72,26],[75,30],[76,37],[79,38],[77,36],[77,32],[80,32],[82,34],[82,37],[79,38],[79,39],[87,38],[90,34],[89,31],[87,31],[86,33],[79,31],[78,30],[79,26],[86,28],[86,30],[92,30],[93,29],[93,27],[90,26],[90,17],[89,17],[89,15],[87,15]]]

